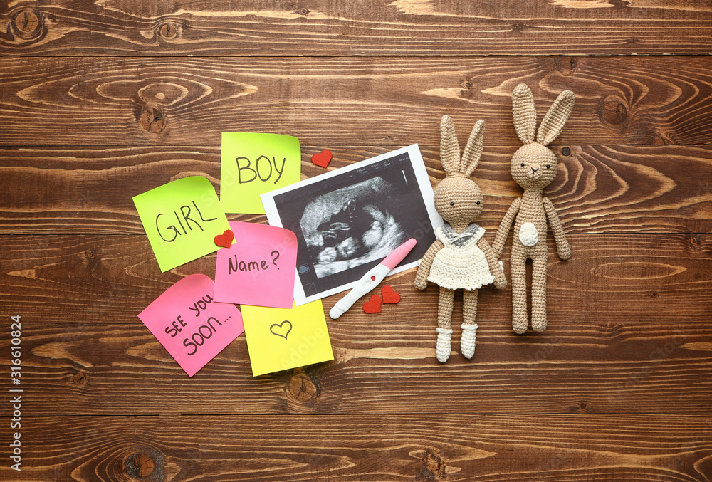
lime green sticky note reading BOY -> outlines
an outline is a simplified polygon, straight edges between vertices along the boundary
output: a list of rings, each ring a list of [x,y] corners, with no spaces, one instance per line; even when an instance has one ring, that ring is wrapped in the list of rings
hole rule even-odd
[[[301,161],[296,137],[223,132],[220,201],[224,211],[264,214],[260,194],[300,181]]]

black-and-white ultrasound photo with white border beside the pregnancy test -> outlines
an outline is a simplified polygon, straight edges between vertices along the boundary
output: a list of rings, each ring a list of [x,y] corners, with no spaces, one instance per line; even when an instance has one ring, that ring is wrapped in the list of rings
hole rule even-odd
[[[393,272],[417,266],[442,224],[432,192],[412,145],[263,195],[270,224],[297,236],[295,302],[350,288],[410,238]]]

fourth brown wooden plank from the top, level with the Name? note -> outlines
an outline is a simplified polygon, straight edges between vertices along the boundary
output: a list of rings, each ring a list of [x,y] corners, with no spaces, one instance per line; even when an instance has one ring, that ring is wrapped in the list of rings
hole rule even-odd
[[[490,234],[491,236],[491,234]],[[550,236],[551,237],[551,236]],[[573,256],[550,246],[549,323],[703,323],[712,314],[712,236],[572,234]],[[550,239],[553,244],[553,239]],[[503,261],[509,277],[509,252]],[[137,313],[192,273],[215,274],[215,255],[160,273],[145,236],[3,236],[4,308],[53,325],[135,324]],[[414,268],[388,278],[407,303],[379,316],[388,323],[435,317],[437,288],[413,286]],[[508,324],[510,288],[485,288],[478,320]],[[332,306],[340,298],[325,299]],[[352,310],[340,323],[365,321]],[[459,314],[456,314],[456,317]],[[84,325],[82,326],[84,328]]]

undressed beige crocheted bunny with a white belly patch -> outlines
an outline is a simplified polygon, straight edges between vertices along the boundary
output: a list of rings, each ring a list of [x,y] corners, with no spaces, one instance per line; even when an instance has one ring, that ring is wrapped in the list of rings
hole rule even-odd
[[[574,106],[574,94],[565,90],[556,98],[544,116],[534,140],[536,108],[531,90],[519,84],[512,93],[514,127],[523,142],[511,162],[513,179],[524,188],[524,195],[515,199],[504,215],[493,243],[497,258],[502,256],[504,243],[514,224],[512,243],[512,326],[521,334],[527,330],[526,260],[532,260],[532,328],[546,329],[546,220],[556,241],[559,258],[571,257],[571,249],[564,229],[551,201],[543,196],[543,189],[556,177],[556,154],[547,145],[558,137]]]

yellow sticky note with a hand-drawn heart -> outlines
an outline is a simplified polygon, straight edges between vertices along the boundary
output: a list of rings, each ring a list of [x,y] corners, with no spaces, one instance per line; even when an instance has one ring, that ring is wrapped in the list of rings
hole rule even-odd
[[[334,360],[321,300],[290,309],[241,310],[254,377]]]

